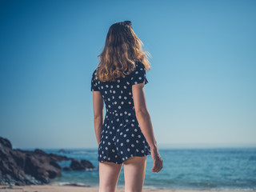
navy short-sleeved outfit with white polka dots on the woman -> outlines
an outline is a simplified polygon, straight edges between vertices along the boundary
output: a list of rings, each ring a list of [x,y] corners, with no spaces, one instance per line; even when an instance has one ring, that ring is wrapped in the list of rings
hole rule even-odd
[[[102,125],[98,146],[98,162],[121,164],[134,156],[150,154],[150,146],[142,134],[135,116],[132,86],[145,82],[146,69],[136,61],[136,70],[116,82],[101,82],[95,76],[91,79],[91,91],[100,91],[106,106],[106,116]]]

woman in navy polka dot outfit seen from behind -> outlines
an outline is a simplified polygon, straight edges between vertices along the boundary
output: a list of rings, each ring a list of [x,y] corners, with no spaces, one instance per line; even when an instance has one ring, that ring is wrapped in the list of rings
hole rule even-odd
[[[162,158],[146,108],[144,85],[150,69],[143,43],[130,21],[116,22],[108,31],[101,60],[92,74],[94,129],[98,142],[99,191],[115,191],[124,165],[125,190],[142,191],[146,155],[153,172]],[[103,122],[103,101],[106,117]]]

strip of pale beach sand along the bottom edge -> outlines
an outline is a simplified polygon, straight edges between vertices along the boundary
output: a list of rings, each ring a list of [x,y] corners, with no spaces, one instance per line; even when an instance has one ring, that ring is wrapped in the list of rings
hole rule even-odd
[[[1,192],[98,192],[98,187],[95,186],[0,186]],[[117,187],[116,192],[124,192],[123,187]],[[143,192],[202,192],[202,190],[150,190],[143,189]],[[203,190],[204,192],[213,192],[213,190]],[[216,190],[218,192],[231,192],[228,190]],[[242,190],[241,190],[242,191]],[[238,192],[238,191],[234,191]]]

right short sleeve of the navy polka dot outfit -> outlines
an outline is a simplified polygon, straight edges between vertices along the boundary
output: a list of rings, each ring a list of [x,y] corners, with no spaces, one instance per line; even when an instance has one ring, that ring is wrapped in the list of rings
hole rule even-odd
[[[136,70],[131,75],[131,84],[135,85],[142,82],[145,82],[145,85],[148,83],[146,79],[146,68],[142,62],[137,62]]]

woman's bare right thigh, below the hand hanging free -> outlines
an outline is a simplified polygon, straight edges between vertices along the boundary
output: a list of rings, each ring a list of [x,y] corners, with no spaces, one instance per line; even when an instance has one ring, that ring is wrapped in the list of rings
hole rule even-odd
[[[146,172],[146,156],[128,158],[123,162],[125,191],[141,192]]]

